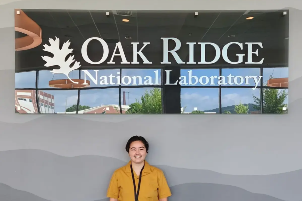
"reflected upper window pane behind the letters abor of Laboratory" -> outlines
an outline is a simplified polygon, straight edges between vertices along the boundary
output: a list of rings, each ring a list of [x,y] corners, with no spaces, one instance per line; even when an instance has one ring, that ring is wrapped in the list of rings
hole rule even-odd
[[[182,86],[218,86],[219,69],[181,69]]]

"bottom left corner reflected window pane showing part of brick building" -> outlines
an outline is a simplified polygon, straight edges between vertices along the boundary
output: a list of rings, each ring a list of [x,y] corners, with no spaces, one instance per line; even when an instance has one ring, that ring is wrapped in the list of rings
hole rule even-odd
[[[15,113],[38,113],[35,90],[15,90]]]

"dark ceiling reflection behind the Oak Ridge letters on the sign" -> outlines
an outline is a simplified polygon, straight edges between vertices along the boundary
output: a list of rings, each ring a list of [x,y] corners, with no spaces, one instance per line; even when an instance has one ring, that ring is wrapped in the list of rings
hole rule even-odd
[[[259,49],[259,58],[264,59],[266,65],[286,65],[288,40],[288,15],[282,16],[283,11],[199,11],[194,16],[193,11],[130,11],[128,16],[120,15],[123,11],[88,10],[29,10],[23,11],[33,19],[42,29],[42,44],[36,48],[16,52],[16,70],[26,71],[34,69],[49,69],[44,67],[45,61],[41,56],[51,56],[50,53],[42,51],[43,44],[48,44],[49,38],[58,37],[61,43],[71,41],[75,59],[80,65],[89,66],[81,56],[81,47],[84,41],[90,37],[101,37],[109,46],[108,59],[100,64],[108,65],[115,44],[121,41],[124,52],[129,62],[132,61],[131,42],[150,42],[143,52],[153,62],[152,65],[161,65],[162,41],[161,37],[176,37],[181,40],[183,47],[178,51],[180,57],[188,61],[188,48],[186,42],[213,42],[221,48],[229,42],[262,42],[264,48]],[[115,13],[113,15],[113,12]],[[288,11],[287,11],[288,12]],[[253,20],[246,17],[254,16]],[[123,22],[122,19],[130,22]],[[190,35],[191,34],[191,35]],[[230,38],[229,35],[235,35]],[[130,36],[132,39],[125,39]],[[171,43],[173,48],[173,44]],[[142,47],[139,46],[139,49]],[[199,46],[195,46],[194,58],[200,58]],[[245,47],[246,51],[246,47]],[[230,47],[230,60],[236,61],[236,54],[245,52],[237,46]],[[88,55],[92,61],[100,60],[102,46],[99,42],[92,41],[88,46]],[[206,55],[209,60],[214,58],[214,48],[209,47]],[[234,55],[232,57],[232,55]],[[140,57],[138,56],[139,60]],[[254,58],[253,58],[254,59]],[[121,66],[121,60],[114,60],[116,66]],[[142,60],[140,60],[142,61]],[[218,61],[216,64],[225,64]],[[99,66],[100,66],[99,65]],[[110,66],[113,67],[113,64]],[[133,65],[132,65],[133,67]],[[150,66],[151,67],[151,66]]]

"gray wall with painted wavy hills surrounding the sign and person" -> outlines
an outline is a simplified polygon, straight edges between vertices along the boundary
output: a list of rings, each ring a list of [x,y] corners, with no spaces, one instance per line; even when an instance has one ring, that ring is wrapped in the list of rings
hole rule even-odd
[[[14,8],[289,9],[289,114],[15,114]],[[300,0],[1,0],[0,200],[105,199],[112,171],[129,160],[126,141],[143,135],[147,160],[167,176],[170,200],[300,201],[301,8]]]

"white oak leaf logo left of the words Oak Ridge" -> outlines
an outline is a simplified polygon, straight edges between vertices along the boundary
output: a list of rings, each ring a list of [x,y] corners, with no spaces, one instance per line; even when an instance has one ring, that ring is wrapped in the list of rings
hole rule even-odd
[[[66,57],[68,54],[72,53],[73,49],[69,49],[70,42],[69,40],[63,44],[62,49],[60,49],[60,39],[55,37],[55,40],[52,38],[49,38],[49,45],[43,45],[44,46],[44,51],[52,53],[54,56],[53,57],[48,57],[48,56],[42,56],[42,59],[46,61],[46,64],[44,66],[50,67],[50,66],[60,66],[60,69],[53,69],[52,72],[53,74],[56,73],[62,73],[65,74],[70,81],[72,81],[75,84],[78,84],[78,82],[74,82],[73,80],[70,79],[69,73],[72,70],[80,68],[80,62],[75,62],[72,67],[70,65],[75,61],[74,55],[69,56],[67,61],[65,61]]]

